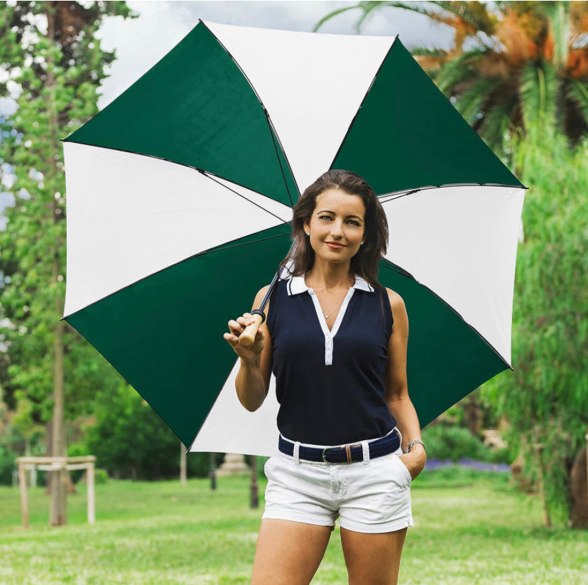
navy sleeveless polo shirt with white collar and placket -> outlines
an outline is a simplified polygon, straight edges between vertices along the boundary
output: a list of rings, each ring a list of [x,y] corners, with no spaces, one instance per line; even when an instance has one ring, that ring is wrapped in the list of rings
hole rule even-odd
[[[332,331],[304,277],[278,281],[267,325],[283,436],[339,445],[376,439],[396,426],[384,385],[392,324],[388,295],[359,277]]]

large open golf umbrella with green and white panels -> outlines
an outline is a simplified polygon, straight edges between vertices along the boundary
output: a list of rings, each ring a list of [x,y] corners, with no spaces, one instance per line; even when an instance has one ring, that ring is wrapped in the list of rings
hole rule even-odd
[[[241,407],[222,334],[330,168],[386,210],[421,424],[510,367],[524,187],[398,38],[200,22],[64,149],[65,320],[193,451],[276,448],[275,392]]]

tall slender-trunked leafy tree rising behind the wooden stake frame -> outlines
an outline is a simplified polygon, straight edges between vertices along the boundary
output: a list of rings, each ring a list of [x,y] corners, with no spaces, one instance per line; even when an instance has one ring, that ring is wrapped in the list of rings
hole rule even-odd
[[[87,344],[60,321],[65,291],[65,180],[59,139],[97,113],[114,52],[94,37],[104,16],[130,16],[125,2],[12,1],[0,7],[0,69],[18,109],[3,124],[1,173],[14,205],[0,232],[0,302],[9,354],[7,394],[28,402],[31,425],[48,422],[53,456],[65,456],[64,364],[99,369]],[[86,358],[89,358],[86,361]],[[88,373],[88,372],[86,372]],[[70,408],[87,382],[70,380]],[[87,401],[86,401],[87,402]],[[48,441],[49,442],[49,441]],[[52,481],[50,523],[65,523],[67,473]],[[57,480],[57,481],[56,481]]]

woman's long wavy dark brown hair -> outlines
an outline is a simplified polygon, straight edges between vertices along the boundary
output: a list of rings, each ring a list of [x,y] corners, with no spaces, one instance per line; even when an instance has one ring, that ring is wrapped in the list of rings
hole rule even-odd
[[[363,278],[379,289],[378,266],[388,246],[388,221],[374,189],[356,173],[334,169],[322,174],[294,205],[292,220],[293,247],[281,266],[288,265],[293,276],[306,274],[315,263],[315,251],[304,230],[305,222],[315,210],[317,197],[324,191],[337,189],[347,195],[357,195],[364,202],[364,244],[351,259],[349,272]]]

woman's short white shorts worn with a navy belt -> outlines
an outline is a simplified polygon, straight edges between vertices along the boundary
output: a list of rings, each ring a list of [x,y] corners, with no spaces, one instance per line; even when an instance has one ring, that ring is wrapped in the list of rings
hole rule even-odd
[[[412,478],[395,453],[355,463],[295,461],[276,453],[265,466],[268,485],[263,518],[354,532],[394,532],[413,526]]]

